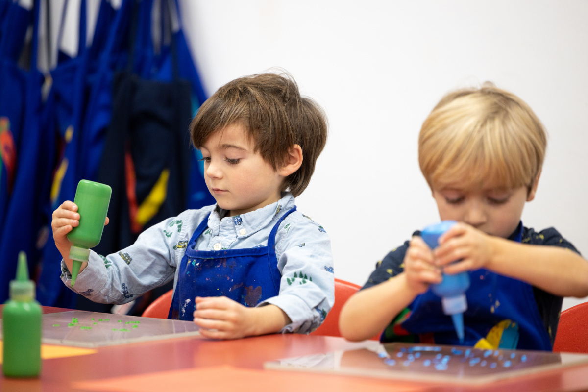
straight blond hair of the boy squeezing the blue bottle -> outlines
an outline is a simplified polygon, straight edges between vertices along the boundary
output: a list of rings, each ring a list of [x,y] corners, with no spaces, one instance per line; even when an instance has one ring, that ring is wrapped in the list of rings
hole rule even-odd
[[[547,136],[519,97],[486,82],[445,95],[419,135],[419,165],[429,186],[453,182],[533,187]]]

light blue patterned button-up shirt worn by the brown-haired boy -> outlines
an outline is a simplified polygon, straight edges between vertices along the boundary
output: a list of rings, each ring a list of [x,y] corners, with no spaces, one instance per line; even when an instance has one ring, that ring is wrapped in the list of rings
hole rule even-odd
[[[236,217],[223,217],[228,212],[217,205],[186,210],[149,227],[134,244],[118,253],[104,257],[91,251],[88,266],[78,275],[72,290],[95,302],[115,304],[132,301],[172,279],[175,290],[177,267],[186,246],[209,213],[208,229],[198,238],[196,249],[266,246],[273,226],[295,205],[291,193],[282,195],[276,203]],[[309,333],[320,326],[335,303],[329,236],[322,226],[297,210],[280,224],[275,248],[282,274],[279,294],[258,306],[274,304],[288,314],[292,323],[282,332]],[[61,280],[71,287],[71,274],[63,261],[61,269]]]

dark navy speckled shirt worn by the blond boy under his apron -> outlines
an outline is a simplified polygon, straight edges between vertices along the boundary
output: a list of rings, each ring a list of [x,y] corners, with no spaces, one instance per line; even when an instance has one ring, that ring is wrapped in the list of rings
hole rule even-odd
[[[517,227],[515,233],[519,231],[519,227]],[[513,236],[515,233],[513,233]],[[416,231],[413,233],[413,236],[420,236],[420,232]],[[524,244],[564,247],[566,249],[572,250],[573,252],[576,252],[577,254],[580,254],[580,252],[577,251],[572,243],[564,239],[562,235],[553,227],[541,230],[539,233],[535,232],[533,229],[523,227],[523,236],[521,242]],[[382,261],[377,262],[376,270],[372,272],[368,282],[366,282],[366,284],[362,287],[362,290],[375,286],[378,283],[385,282],[391,277],[403,272],[404,257],[408,247],[409,241],[406,241],[404,244],[402,244],[402,246],[391,250]],[[537,309],[539,309],[539,314],[543,320],[543,325],[545,326],[547,333],[549,333],[549,337],[553,345],[553,341],[555,340],[557,332],[557,323],[559,323],[559,314],[562,310],[563,298],[534,286],[533,293],[537,303]]]

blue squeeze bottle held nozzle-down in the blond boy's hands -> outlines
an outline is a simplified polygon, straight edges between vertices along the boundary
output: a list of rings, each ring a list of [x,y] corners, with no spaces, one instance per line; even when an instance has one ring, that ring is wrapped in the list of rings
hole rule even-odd
[[[455,220],[443,220],[425,227],[420,236],[431,249],[435,249],[439,246],[439,237],[456,223]],[[470,287],[469,273],[464,271],[455,275],[443,274],[442,282],[431,284],[430,287],[433,293],[441,297],[443,313],[451,316],[457,337],[463,343],[463,312],[467,310],[465,292]]]

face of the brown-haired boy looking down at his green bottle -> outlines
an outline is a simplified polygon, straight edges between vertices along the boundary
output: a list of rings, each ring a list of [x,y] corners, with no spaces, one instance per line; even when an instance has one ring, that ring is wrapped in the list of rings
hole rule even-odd
[[[284,177],[253,152],[253,143],[240,124],[213,133],[201,148],[205,182],[229,216],[265,207],[280,199]]]

